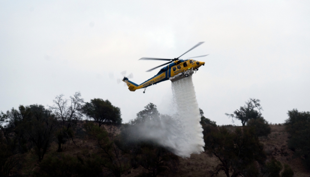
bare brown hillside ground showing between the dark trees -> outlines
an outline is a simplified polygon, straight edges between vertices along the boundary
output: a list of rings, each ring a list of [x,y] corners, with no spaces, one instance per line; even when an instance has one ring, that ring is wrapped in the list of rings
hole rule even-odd
[[[98,147],[96,146],[96,141],[89,138],[83,124],[85,122],[79,123],[80,128],[77,129],[76,137],[73,138],[73,141],[68,141],[63,145],[62,155],[77,156],[83,154],[84,156],[89,156],[90,154],[97,154]],[[118,128],[113,126],[102,126],[109,133],[120,133]],[[289,150],[286,142],[288,140],[289,134],[285,132],[283,125],[271,125],[271,133],[268,137],[260,138],[260,141],[264,144],[264,149],[267,154],[267,159],[274,157],[276,160],[284,164],[288,164],[294,170],[295,177],[309,177],[310,172],[307,172],[303,167],[303,164],[300,158],[294,157],[293,151]],[[233,130],[237,127],[229,127],[230,130]],[[51,147],[47,151],[45,158],[49,156],[59,156],[57,153],[58,145],[57,143],[52,143]],[[58,154],[58,155],[57,155]],[[88,154],[88,155],[87,155]],[[39,171],[40,167],[35,158],[34,151],[27,153],[25,157],[25,162],[19,171],[15,171],[18,174],[31,175],[35,171]],[[181,177],[195,177],[195,176],[209,176],[209,171],[214,170],[218,165],[219,161],[216,157],[210,157],[205,152],[201,154],[192,154],[190,158],[181,158],[179,157],[179,165],[177,166],[176,173],[167,172],[162,176],[181,176]],[[142,174],[143,172],[147,173],[148,171],[143,167],[136,169],[131,169],[128,173],[124,173],[124,177],[134,177]],[[109,174],[109,173],[107,173]],[[159,175],[160,176],[160,175]],[[220,172],[219,177],[226,176],[223,172]]]

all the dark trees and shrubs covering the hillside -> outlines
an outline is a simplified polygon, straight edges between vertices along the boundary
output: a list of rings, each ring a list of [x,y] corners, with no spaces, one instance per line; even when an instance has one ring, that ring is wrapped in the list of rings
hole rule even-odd
[[[179,157],[169,149],[151,141],[138,141],[131,132],[145,121],[158,121],[167,115],[159,114],[156,105],[149,103],[144,110],[137,114],[137,118],[128,124],[121,124],[120,109],[113,106],[108,100],[91,100],[83,104],[80,93],[76,93],[69,101],[59,95],[54,100],[55,105],[50,110],[42,105],[19,106],[5,114],[0,113],[0,177],[25,175],[23,165],[28,163],[28,158],[38,158],[38,167],[25,176],[116,176],[131,173],[131,169],[143,167],[148,171],[138,176],[170,176],[176,173]],[[254,110],[257,108],[257,110]],[[217,127],[216,122],[204,117],[200,109],[201,125],[203,127],[205,151],[216,156],[220,164],[211,171],[211,176],[223,171],[228,177],[279,177],[282,165],[279,161],[271,159],[265,163],[266,156],[263,145],[258,137],[270,133],[268,122],[261,116],[259,100],[250,99],[247,105],[241,107],[234,114],[228,114],[233,119],[238,119],[247,126],[243,128]],[[92,121],[77,126],[81,119],[82,111],[99,123],[95,126]],[[310,113],[298,112],[293,109],[288,113],[286,130],[292,135],[289,147],[310,169]],[[239,117],[238,117],[239,116]],[[167,118],[167,117],[166,117]],[[166,119],[165,118],[165,119]],[[102,124],[109,124],[105,129]],[[78,129],[79,128],[79,129]],[[78,131],[77,131],[78,129]],[[85,131],[86,130],[86,131]],[[129,131],[130,130],[130,131]],[[73,137],[77,132],[96,141],[96,147],[90,153],[82,149],[77,155],[68,155],[48,151],[50,143],[56,141],[59,145],[58,152],[62,151],[61,145]],[[29,157],[31,156],[31,157]],[[37,156],[37,157],[36,157]],[[44,158],[43,158],[44,156]],[[37,162],[33,161],[32,165]],[[26,171],[27,171],[26,170]],[[23,172],[21,172],[23,171]],[[292,177],[294,171],[289,165],[284,165],[281,177]]]

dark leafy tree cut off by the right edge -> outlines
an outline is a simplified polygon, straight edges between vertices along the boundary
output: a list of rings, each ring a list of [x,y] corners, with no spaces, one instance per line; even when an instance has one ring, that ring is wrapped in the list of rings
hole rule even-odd
[[[286,131],[291,134],[288,146],[296,155],[302,156],[305,167],[310,169],[310,112],[293,109],[285,120]]]

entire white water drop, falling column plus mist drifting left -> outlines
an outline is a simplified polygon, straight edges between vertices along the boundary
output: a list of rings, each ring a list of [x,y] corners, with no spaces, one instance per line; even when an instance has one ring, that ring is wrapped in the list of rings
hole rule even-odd
[[[135,139],[152,140],[181,157],[200,154],[204,151],[203,129],[192,77],[172,82],[172,94],[171,107],[176,109],[172,119],[161,115],[135,127],[132,133]]]

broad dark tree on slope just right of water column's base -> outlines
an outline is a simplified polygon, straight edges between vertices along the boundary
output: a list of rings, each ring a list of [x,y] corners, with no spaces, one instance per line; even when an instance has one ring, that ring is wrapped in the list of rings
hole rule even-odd
[[[214,155],[220,164],[211,171],[211,176],[224,171],[227,177],[252,174],[258,171],[255,163],[264,164],[263,145],[251,128],[237,128],[230,133],[226,128],[204,131],[205,151]],[[258,174],[256,174],[258,175]]]

